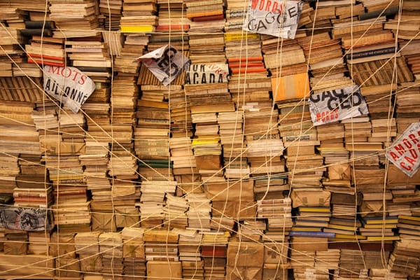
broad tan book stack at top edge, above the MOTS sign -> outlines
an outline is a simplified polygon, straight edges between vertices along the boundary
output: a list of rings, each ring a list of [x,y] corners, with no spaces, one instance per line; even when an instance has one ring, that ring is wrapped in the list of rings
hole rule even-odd
[[[57,26],[53,32],[54,37],[71,38],[99,34],[94,30],[99,27],[96,1],[52,0],[50,3],[50,20],[53,20]]]

